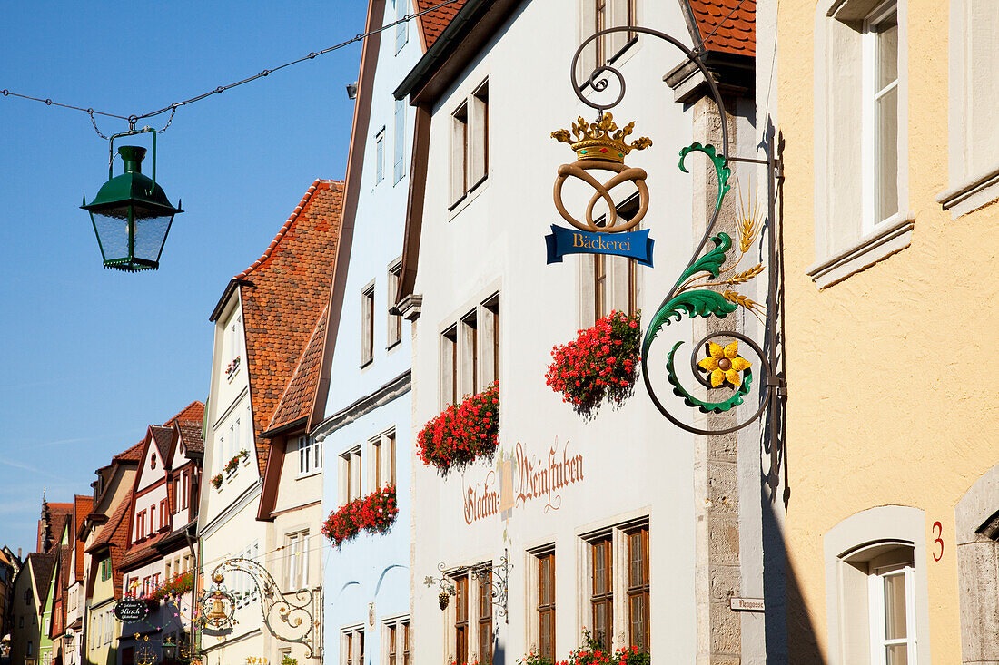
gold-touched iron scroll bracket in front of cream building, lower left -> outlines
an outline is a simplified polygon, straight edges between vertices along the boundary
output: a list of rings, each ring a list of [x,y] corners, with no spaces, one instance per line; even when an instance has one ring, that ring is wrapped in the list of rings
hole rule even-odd
[[[312,589],[284,592],[271,573],[256,561],[245,558],[227,559],[212,571],[212,579],[221,584],[225,571],[249,575],[260,592],[260,607],[264,625],[282,642],[298,642],[309,650],[306,658],[315,658],[319,622],[313,617],[316,598]],[[322,636],[319,636],[322,640]]]

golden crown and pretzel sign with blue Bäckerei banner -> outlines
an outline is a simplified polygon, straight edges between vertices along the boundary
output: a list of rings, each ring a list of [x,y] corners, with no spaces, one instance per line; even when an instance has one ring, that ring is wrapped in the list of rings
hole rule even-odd
[[[648,187],[644,169],[624,164],[624,156],[632,150],[644,150],[652,145],[647,137],[630,143],[625,139],[634,130],[634,123],[618,129],[613,116],[603,114],[597,122],[587,123],[583,118],[572,123],[572,134],[558,130],[551,137],[567,143],[575,151],[576,161],[558,167],[554,185],[555,210],[572,229],[551,225],[551,234],[544,237],[547,263],[560,263],[568,254],[608,254],[628,257],[643,266],[652,266],[652,241],[648,230],[631,231],[641,223],[648,212]],[[591,171],[609,171],[614,175],[605,182],[593,177]],[[582,181],[593,189],[585,214],[578,219],[562,203],[562,188],[569,178]],[[618,214],[612,190],[620,185],[633,185],[638,193],[638,209],[625,219]],[[593,219],[594,210],[602,203],[606,214]]]

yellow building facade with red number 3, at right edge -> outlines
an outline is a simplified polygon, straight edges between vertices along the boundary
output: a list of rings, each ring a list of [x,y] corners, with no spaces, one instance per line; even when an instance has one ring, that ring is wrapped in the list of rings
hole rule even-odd
[[[757,4],[792,663],[999,662],[997,29],[994,0]]]

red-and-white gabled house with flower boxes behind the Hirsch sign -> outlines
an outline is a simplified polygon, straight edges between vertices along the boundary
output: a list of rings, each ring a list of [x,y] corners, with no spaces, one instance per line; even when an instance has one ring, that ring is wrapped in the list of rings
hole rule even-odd
[[[194,499],[201,482],[204,414],[204,404],[192,402],[166,424],[150,425],[143,441],[119,577],[123,593],[145,599],[150,612],[143,621],[121,626],[119,665],[132,665],[146,650],[162,658],[165,640],[185,641],[193,629]]]

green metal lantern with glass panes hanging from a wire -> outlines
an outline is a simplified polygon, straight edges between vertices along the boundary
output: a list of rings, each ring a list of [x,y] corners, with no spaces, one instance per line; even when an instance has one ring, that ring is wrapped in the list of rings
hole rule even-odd
[[[146,149],[122,146],[118,154],[125,172],[112,178],[89,204],[84,197],[83,210],[90,213],[94,234],[104,257],[104,267],[136,273],[160,267],[160,254],[167,242],[174,208],[163,188],[156,184],[156,134],[153,134],[153,178],[142,174]]]

